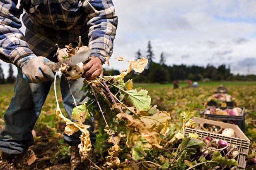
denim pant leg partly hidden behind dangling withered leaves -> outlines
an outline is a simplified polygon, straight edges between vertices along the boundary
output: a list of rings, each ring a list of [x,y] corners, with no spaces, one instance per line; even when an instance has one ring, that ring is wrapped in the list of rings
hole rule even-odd
[[[85,94],[87,92],[86,91],[80,92],[80,90],[84,84],[83,80],[84,80],[83,78],[79,78],[75,82],[70,80],[71,92],[72,92],[73,96],[75,97],[75,100],[76,100],[78,106],[82,105],[83,103],[85,103],[87,101],[87,97],[85,97]],[[64,106],[66,112],[68,113],[68,116],[71,119],[72,110],[75,107],[75,104],[73,104],[74,100],[70,93],[68,81],[65,80],[65,78],[63,76],[61,76],[61,80],[60,80],[60,90],[61,90],[62,99],[63,99],[63,106]],[[71,120],[74,121],[73,119],[71,119]],[[91,143],[94,144],[96,141],[96,135],[93,132],[94,131],[94,118],[92,117],[92,118],[85,120],[84,124],[91,126],[87,130],[90,132]],[[70,135],[70,136],[68,136],[64,133],[63,141],[65,143],[69,144],[70,146],[78,145],[81,143],[80,135],[81,135],[81,131],[75,132],[73,135]]]

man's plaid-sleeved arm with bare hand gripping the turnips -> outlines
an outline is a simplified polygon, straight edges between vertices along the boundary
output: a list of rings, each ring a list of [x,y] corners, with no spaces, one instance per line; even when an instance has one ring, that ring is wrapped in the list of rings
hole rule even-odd
[[[112,0],[93,0],[89,2],[97,10],[95,12],[85,2],[85,11],[89,13],[87,16],[89,48],[92,49],[91,57],[94,57],[85,65],[85,77],[92,79],[99,75],[103,76],[102,64],[105,62],[104,57],[110,57],[113,53],[117,16]]]

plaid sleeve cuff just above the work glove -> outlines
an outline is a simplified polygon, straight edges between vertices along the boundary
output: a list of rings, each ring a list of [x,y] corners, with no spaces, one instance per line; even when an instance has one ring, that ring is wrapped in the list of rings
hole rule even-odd
[[[24,62],[22,59],[27,57],[29,54],[32,54],[30,57],[37,57],[29,48],[17,47],[10,53],[10,61],[12,61],[12,63],[17,67],[21,67],[21,64]]]

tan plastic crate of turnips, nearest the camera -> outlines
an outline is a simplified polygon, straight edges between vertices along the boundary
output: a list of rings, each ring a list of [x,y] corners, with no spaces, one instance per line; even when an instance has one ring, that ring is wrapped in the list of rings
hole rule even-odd
[[[199,139],[201,139],[201,140],[203,140],[203,138],[205,138],[205,137],[210,137],[212,139],[219,139],[219,140],[226,141],[228,144],[232,144],[232,145],[236,146],[237,150],[239,151],[239,154],[234,159],[237,161],[238,166],[237,167],[234,167],[234,166],[231,167],[231,166],[227,165],[227,166],[224,166],[224,167],[221,167],[221,168],[222,168],[222,170],[223,169],[231,169],[231,168],[232,168],[232,170],[245,170],[245,168],[246,168],[245,157],[248,155],[248,152],[249,152],[250,140],[246,137],[246,135],[244,135],[242,130],[240,130],[240,128],[237,125],[222,123],[222,122],[218,122],[218,121],[214,121],[214,120],[206,120],[206,119],[203,119],[203,118],[196,118],[196,117],[193,117],[191,119],[193,119],[196,123],[200,124],[200,126],[199,126],[200,129],[201,129],[201,127],[203,128],[204,125],[219,126],[220,131],[222,131],[225,128],[232,128],[235,131],[237,137],[225,137],[225,136],[223,136],[219,133],[196,130],[196,129],[191,129],[191,128],[187,128],[187,127],[184,130],[184,135],[188,136],[189,133],[196,133],[199,136]],[[203,149],[208,149],[209,150],[209,148],[210,148],[209,146],[203,146],[202,148],[200,148],[200,153],[205,151]],[[226,153],[227,152],[227,150],[224,151],[224,149],[213,149],[213,148],[210,148],[210,149],[212,149],[213,151],[217,150],[220,153]],[[227,156],[228,154],[229,153],[226,153],[225,156]],[[203,170],[203,167],[201,167],[201,168]],[[215,170],[215,169],[216,168],[214,167],[211,170]]]

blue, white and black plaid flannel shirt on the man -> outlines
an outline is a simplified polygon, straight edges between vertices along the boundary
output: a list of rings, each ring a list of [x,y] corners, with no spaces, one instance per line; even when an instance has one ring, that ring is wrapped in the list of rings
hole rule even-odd
[[[112,0],[92,0],[90,4],[86,0],[21,2],[17,9],[17,0],[0,0],[0,59],[3,61],[19,66],[17,61],[29,54],[49,57],[58,47],[68,43],[76,46],[79,36],[92,49],[91,56],[111,56],[117,27]],[[19,31],[23,9],[25,36]]]

